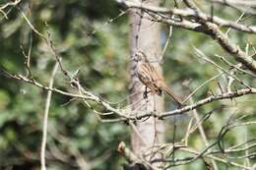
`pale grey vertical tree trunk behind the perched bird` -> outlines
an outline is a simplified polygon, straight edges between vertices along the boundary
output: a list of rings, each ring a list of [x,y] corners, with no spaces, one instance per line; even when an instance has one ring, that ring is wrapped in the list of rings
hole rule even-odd
[[[159,2],[159,0],[143,0],[142,3],[158,6]],[[145,17],[147,18],[147,14],[143,13],[141,10],[131,10],[131,56],[133,56],[138,50],[143,51],[148,56],[150,61],[155,61],[153,64],[156,65],[156,67],[161,72],[160,65],[158,62],[156,62],[160,57],[160,25],[145,19]],[[157,112],[162,111],[162,97],[149,94],[148,102],[143,98],[143,91],[145,90],[145,86],[142,85],[142,83],[136,77],[135,69],[136,62],[131,60],[131,81],[129,88],[131,94],[130,100],[131,103],[136,103],[132,105],[132,109],[143,111],[156,110]],[[138,101],[141,102],[138,103]],[[163,142],[164,128],[162,121],[159,121],[155,118],[150,118],[146,121],[138,120],[136,122],[136,129],[138,130],[137,132],[135,132],[135,129],[133,129],[131,142],[132,149],[138,156],[145,157],[144,154],[146,152],[151,152],[153,145]],[[138,133],[140,134],[140,137],[138,136]],[[157,154],[154,156],[146,156],[145,158],[150,160],[154,158],[160,158],[160,155]],[[159,165],[154,166],[157,167]]]

